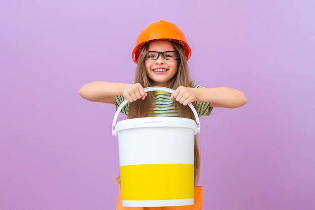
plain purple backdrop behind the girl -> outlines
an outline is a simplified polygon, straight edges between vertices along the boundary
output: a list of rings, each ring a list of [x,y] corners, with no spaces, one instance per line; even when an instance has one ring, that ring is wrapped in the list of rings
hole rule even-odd
[[[148,23],[179,26],[193,79],[244,91],[201,118],[204,209],[315,209],[315,2],[2,1],[0,208],[115,209],[112,104],[88,82],[131,82]]]

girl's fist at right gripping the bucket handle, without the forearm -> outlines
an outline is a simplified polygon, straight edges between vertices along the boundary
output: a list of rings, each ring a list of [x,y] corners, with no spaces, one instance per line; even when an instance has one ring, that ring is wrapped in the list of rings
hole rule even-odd
[[[186,106],[188,103],[196,100],[195,88],[179,86],[174,93],[172,93],[170,100],[176,99],[178,102]]]

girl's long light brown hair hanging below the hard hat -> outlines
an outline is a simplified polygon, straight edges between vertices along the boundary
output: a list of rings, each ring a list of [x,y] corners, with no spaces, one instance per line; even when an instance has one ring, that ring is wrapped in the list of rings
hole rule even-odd
[[[191,87],[191,79],[189,74],[189,67],[186,61],[185,53],[183,47],[175,42],[170,42],[173,48],[179,51],[178,69],[174,75],[172,81],[169,84],[169,88],[177,89],[179,86],[183,85],[186,87]],[[140,83],[143,87],[153,86],[152,80],[146,75],[146,68],[144,65],[145,52],[150,43],[144,45],[141,49],[140,56],[138,58],[138,65],[136,68],[135,79],[136,83]],[[132,118],[143,118],[148,117],[150,111],[152,111],[152,99],[153,93],[148,92],[148,95],[144,100],[135,100],[129,104],[128,119]],[[189,118],[195,120],[195,116],[192,113],[189,106],[183,106],[177,100],[174,100],[175,109],[179,110],[179,117]],[[197,135],[195,135],[195,151],[194,151],[194,182],[197,185],[200,174],[200,153],[197,141]],[[116,178],[116,182],[119,183],[119,177]]]

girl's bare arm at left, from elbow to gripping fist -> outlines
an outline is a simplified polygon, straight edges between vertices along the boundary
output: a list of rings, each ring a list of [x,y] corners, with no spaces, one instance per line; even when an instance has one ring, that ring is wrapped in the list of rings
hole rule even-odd
[[[147,95],[139,83],[125,84],[106,81],[85,84],[79,90],[79,94],[90,101],[113,104],[116,103],[116,95],[123,95],[129,102],[139,98],[144,99]]]

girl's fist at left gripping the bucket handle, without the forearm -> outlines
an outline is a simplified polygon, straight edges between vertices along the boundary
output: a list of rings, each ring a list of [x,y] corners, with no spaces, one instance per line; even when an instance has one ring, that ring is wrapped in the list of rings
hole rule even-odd
[[[144,88],[140,83],[135,84],[126,84],[122,95],[129,101],[135,101],[137,99],[144,99],[147,96],[147,93],[144,91]]]

